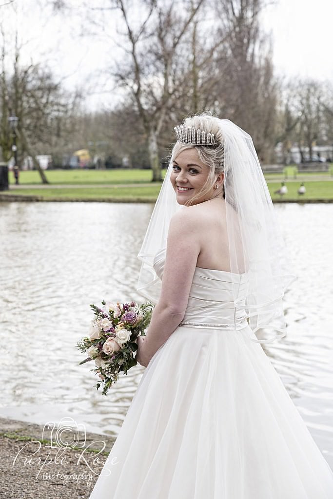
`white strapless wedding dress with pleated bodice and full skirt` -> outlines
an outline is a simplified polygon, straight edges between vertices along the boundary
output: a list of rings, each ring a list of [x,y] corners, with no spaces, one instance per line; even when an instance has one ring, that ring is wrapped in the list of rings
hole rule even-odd
[[[149,362],[90,499],[333,498],[327,461],[231,301],[246,278],[196,267],[191,324]]]

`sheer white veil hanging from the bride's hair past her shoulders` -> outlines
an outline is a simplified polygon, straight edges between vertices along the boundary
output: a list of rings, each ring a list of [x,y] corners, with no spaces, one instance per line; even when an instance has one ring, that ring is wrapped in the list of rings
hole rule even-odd
[[[280,232],[272,199],[253,145],[240,127],[227,119],[211,117],[218,123],[224,145],[224,195],[230,271],[245,273],[247,292],[239,295],[232,284],[236,309],[245,309],[251,340],[270,343],[286,335],[282,298],[296,279]],[[210,130],[206,130],[206,133]],[[170,161],[138,258],[142,261],[137,291],[157,303],[161,281],[154,270],[154,256],[166,248],[170,219],[184,206],[176,201],[170,182]],[[254,334],[262,330],[264,337]],[[268,331],[271,331],[270,333]],[[273,331],[273,332],[272,332]]]

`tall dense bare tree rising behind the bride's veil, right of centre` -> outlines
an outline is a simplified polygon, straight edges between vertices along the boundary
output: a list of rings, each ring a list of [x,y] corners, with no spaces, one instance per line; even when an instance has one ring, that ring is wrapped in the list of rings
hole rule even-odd
[[[252,135],[262,161],[272,155],[278,98],[272,43],[260,26],[265,5],[264,0],[215,2],[220,38],[225,33],[227,37],[210,68],[215,111]]]

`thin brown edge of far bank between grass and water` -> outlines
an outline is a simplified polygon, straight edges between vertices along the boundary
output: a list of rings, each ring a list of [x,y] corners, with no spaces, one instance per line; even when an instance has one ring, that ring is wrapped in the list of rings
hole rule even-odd
[[[155,203],[157,198],[145,198],[145,197],[108,197],[108,198],[62,198],[62,197],[49,197],[44,198],[43,196],[35,196],[35,195],[21,195],[21,194],[3,194],[0,193],[0,202],[17,202],[17,201],[40,201],[40,202],[67,202],[67,203]],[[331,199],[323,199],[323,198],[314,198],[314,199],[295,199],[295,198],[284,198],[284,199],[273,199],[273,203],[299,203],[299,204],[308,204],[308,203],[333,203],[333,198]]]

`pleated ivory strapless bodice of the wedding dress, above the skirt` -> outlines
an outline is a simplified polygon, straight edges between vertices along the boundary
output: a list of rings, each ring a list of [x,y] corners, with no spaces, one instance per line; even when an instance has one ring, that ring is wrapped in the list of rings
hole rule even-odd
[[[157,251],[154,257],[154,269],[160,279],[163,277],[165,251],[165,248]],[[235,284],[238,300],[245,298],[248,285],[246,273],[196,267],[182,323],[211,327],[219,324],[223,329],[237,330],[246,327],[248,322],[245,310],[234,305]]]

